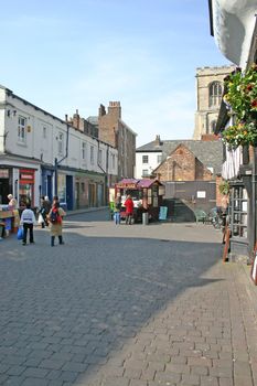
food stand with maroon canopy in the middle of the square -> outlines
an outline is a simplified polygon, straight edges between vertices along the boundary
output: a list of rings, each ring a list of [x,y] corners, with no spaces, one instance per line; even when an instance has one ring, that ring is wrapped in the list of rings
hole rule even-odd
[[[133,219],[142,222],[142,214],[148,213],[148,218],[158,221],[159,210],[162,205],[164,185],[159,180],[150,179],[122,179],[115,184],[115,197],[121,197],[121,219],[126,217],[124,203],[129,194],[133,201]]]

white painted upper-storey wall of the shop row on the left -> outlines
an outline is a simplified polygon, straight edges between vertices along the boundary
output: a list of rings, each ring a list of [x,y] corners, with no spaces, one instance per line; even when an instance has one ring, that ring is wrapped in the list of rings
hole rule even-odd
[[[1,88],[0,88],[1,90]],[[2,94],[2,93],[1,93]],[[1,95],[0,95],[1,97]],[[8,116],[8,110],[11,110]],[[7,97],[7,106],[0,110],[1,130],[4,127],[3,117],[6,116],[6,130],[8,131],[6,150],[12,154],[33,158],[38,161],[43,161],[47,164],[54,164],[54,159],[62,160],[66,156],[67,125],[65,121],[44,112],[43,110],[25,104],[13,96]],[[19,116],[26,119],[25,141],[24,143],[18,140],[18,121]],[[58,153],[58,136],[63,135],[63,152]],[[0,131],[1,135],[1,131]],[[86,143],[86,159],[82,158],[83,142]],[[107,149],[111,149],[115,154],[116,162],[113,167],[109,162],[110,174],[118,173],[118,151],[110,148],[104,142],[99,142],[99,148],[103,151],[103,169],[106,171]],[[94,147],[94,162],[90,162],[90,147]],[[98,140],[84,135],[83,132],[69,127],[68,129],[68,157],[61,162],[63,167],[69,167],[81,170],[89,170],[103,173],[103,170],[97,165]]]

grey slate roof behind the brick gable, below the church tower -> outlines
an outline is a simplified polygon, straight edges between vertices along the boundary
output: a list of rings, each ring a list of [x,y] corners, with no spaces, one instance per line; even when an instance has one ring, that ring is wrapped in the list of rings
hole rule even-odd
[[[179,144],[184,144],[205,165],[214,169],[214,174],[222,172],[223,143],[221,140],[201,141],[193,139],[162,140],[158,146],[156,141],[137,148],[136,152],[162,151],[162,161],[170,156]]]

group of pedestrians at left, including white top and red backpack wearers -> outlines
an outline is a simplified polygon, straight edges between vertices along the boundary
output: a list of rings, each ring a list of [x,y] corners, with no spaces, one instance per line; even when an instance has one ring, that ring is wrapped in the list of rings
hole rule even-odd
[[[58,237],[58,244],[63,245],[63,217],[64,210],[60,206],[57,196],[54,196],[51,204],[47,196],[41,197],[41,206],[39,211],[39,221],[35,219],[35,214],[31,210],[31,204],[26,203],[25,210],[21,214],[20,225],[23,227],[22,245],[26,245],[28,232],[30,244],[34,244],[33,226],[40,224],[42,228],[50,227],[51,246],[54,246],[55,236]]]

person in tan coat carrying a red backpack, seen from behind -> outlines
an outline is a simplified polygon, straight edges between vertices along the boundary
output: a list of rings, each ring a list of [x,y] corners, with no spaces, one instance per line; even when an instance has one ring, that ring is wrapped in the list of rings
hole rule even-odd
[[[50,222],[50,234],[51,234],[51,246],[54,247],[55,236],[58,237],[58,244],[64,244],[63,240],[63,216],[66,213],[62,207],[60,207],[58,199],[55,196],[53,201],[52,208],[47,215]]]

